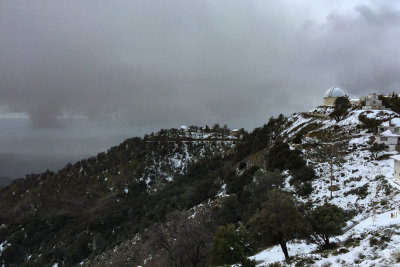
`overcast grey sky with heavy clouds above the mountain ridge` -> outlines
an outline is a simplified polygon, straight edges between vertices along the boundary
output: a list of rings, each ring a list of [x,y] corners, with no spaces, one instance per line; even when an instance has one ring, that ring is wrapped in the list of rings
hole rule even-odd
[[[160,128],[251,130],[332,86],[398,92],[398,47],[394,0],[3,0],[0,177]]]

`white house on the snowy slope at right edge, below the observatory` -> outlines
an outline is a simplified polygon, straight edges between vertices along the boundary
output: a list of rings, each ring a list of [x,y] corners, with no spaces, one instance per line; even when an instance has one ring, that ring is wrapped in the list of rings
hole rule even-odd
[[[389,151],[399,150],[400,146],[400,118],[393,118],[383,122],[378,127],[378,134],[375,136],[378,144],[386,144]]]

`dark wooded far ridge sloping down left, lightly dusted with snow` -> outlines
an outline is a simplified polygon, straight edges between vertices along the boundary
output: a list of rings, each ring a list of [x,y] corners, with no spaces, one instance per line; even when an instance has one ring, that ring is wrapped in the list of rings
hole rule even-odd
[[[16,180],[0,193],[2,261],[20,264],[29,256],[39,265],[58,259],[75,264],[162,220],[177,205],[200,203],[203,198],[173,185],[186,182],[190,166],[230,150],[238,137],[229,134],[223,128],[161,130],[57,173]],[[180,194],[179,203],[168,199]]]

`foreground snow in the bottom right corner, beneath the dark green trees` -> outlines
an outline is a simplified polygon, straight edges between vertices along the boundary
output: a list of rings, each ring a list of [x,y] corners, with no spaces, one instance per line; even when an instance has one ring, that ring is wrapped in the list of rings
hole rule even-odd
[[[392,218],[391,213],[398,212],[397,218]],[[400,213],[398,210],[392,210],[385,213],[375,215],[374,222],[372,216],[358,223],[356,226],[348,230],[341,236],[336,238],[340,244],[345,244],[346,240],[353,238],[359,240],[359,245],[354,248],[341,246],[336,250],[327,253],[318,254],[317,245],[302,242],[289,242],[289,256],[297,256],[298,258],[310,258],[313,260],[311,266],[322,266],[330,262],[330,266],[400,266],[395,263],[393,253],[400,251]],[[396,227],[396,228],[395,228]],[[384,242],[381,246],[371,246],[371,240],[378,240],[381,233],[385,229],[394,231],[389,235],[390,241]],[[393,230],[394,229],[394,230]],[[388,231],[387,231],[388,232]],[[357,241],[356,241],[357,242]],[[393,249],[395,248],[395,250]],[[338,253],[339,252],[339,253]],[[279,245],[273,246],[261,253],[251,257],[258,262],[258,267],[268,266],[274,262],[284,260],[283,252]],[[290,264],[287,264],[290,266]]]

